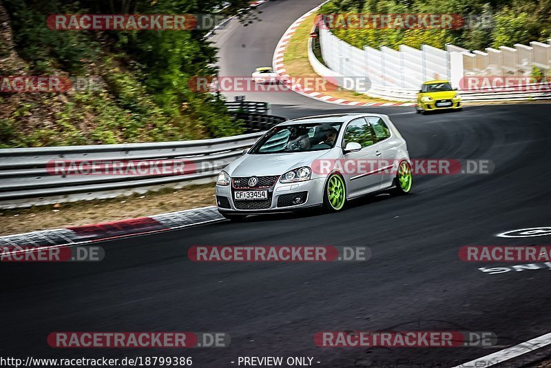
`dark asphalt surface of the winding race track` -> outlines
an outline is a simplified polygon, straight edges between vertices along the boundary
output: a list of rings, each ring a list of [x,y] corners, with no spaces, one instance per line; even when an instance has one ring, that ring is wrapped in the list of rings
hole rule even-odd
[[[270,65],[290,23],[316,1],[264,4],[265,21],[223,30],[222,70]],[[236,52],[245,43],[247,51]],[[303,96],[275,112],[340,110]],[[290,106],[292,105],[292,106]],[[323,111],[321,111],[323,110]],[[351,109],[346,109],[351,110]],[[375,196],[337,214],[258,216],[98,243],[101,263],[2,264],[0,355],[191,356],[195,367],[232,367],[238,356],[313,356],[320,367],[452,367],[551,330],[550,269],[486,274],[463,245],[549,244],[551,236],[498,238],[551,225],[549,105],[492,105],[422,116],[389,114],[412,158],[489,159],[489,175],[415,176],[413,193]],[[284,113],[283,113],[284,112]],[[367,245],[365,263],[193,263],[192,245]],[[329,330],[494,331],[499,346],[322,349]],[[219,349],[52,349],[52,331],[226,331]],[[390,363],[389,363],[390,362]],[[415,367],[415,365],[413,365]]]

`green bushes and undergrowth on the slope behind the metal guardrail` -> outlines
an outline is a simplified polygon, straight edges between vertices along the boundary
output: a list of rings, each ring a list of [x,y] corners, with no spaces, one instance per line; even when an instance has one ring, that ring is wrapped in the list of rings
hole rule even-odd
[[[226,1],[5,3],[25,74],[100,76],[105,83],[101,90],[0,100],[2,147],[178,141],[244,131],[227,114],[222,97],[188,86],[191,76],[218,72],[212,66],[217,50],[203,39],[206,31],[64,32],[46,25],[48,14],[205,14]],[[234,0],[224,11],[235,14],[247,5],[247,0]],[[247,12],[240,18],[250,21]]]

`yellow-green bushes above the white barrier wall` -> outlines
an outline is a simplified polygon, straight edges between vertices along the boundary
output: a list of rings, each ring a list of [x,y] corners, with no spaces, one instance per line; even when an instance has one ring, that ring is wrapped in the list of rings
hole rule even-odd
[[[462,28],[459,30],[395,30],[395,29],[337,29],[337,37],[357,48],[386,45],[397,49],[399,45],[419,48],[431,45],[444,48],[446,43],[467,48],[484,50],[487,47],[514,43],[528,44],[551,37],[551,2],[530,0],[501,0],[482,2],[479,0],[333,0],[318,11],[320,14],[342,12],[370,12],[385,14],[428,13],[493,16],[492,27]]]

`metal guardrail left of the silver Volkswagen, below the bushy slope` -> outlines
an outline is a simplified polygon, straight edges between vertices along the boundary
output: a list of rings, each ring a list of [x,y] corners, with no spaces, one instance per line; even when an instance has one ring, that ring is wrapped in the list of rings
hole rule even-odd
[[[79,145],[67,147],[14,148],[0,150],[0,208],[29,207],[121,194],[145,193],[163,187],[209,183],[218,172],[251,147],[272,125],[287,119],[264,114],[236,113],[256,132],[240,136],[164,143]],[[194,168],[185,174],[148,173],[55,174],[52,163],[128,162],[181,160]],[[168,161],[166,161],[168,162]]]

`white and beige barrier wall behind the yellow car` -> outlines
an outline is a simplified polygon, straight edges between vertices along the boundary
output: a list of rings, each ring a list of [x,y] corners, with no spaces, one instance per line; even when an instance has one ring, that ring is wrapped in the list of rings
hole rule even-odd
[[[446,79],[459,87],[464,76],[530,75],[533,66],[551,68],[551,39],[548,43],[517,43],[470,52],[455,45],[446,50],[423,45],[421,50],[401,45],[399,50],[355,48],[321,27],[320,46],[325,64],[344,76],[366,76],[374,88],[418,90],[431,79]]]

